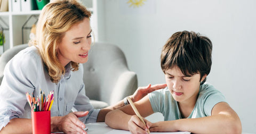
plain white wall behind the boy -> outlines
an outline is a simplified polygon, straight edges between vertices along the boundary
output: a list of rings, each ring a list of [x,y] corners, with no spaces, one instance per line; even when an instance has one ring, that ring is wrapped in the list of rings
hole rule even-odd
[[[98,1],[99,41],[121,47],[139,86],[165,82],[159,59],[167,38],[176,31],[200,32],[213,43],[207,82],[226,96],[243,132],[256,133],[256,1],[147,0],[135,9],[123,1]]]

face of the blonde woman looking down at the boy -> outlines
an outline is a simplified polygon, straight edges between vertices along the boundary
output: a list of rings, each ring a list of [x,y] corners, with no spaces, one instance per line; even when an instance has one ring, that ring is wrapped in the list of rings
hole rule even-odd
[[[70,61],[85,63],[88,61],[88,52],[91,49],[90,20],[85,18],[65,32],[58,46],[58,59],[63,66]]]

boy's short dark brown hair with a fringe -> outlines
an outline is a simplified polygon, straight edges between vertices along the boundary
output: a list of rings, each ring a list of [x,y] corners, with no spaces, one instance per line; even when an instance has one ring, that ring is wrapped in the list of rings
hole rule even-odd
[[[193,31],[175,32],[163,46],[161,68],[165,73],[177,65],[185,76],[200,73],[202,79],[211,71],[211,55],[212,42],[209,38]],[[201,84],[205,81],[206,78]]]

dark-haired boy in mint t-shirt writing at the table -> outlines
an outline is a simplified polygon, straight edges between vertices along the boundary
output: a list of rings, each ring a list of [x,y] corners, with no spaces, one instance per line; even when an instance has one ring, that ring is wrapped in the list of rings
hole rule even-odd
[[[176,32],[164,45],[161,68],[167,87],[135,102],[142,117],[160,112],[164,121],[144,125],[130,105],[109,112],[106,124],[132,133],[189,131],[242,133],[241,121],[225,97],[209,83],[211,40],[191,31]],[[120,120],[122,119],[122,120]]]

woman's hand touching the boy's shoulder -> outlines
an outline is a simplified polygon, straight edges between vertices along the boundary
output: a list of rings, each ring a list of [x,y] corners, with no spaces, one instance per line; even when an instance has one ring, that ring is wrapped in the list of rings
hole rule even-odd
[[[167,86],[166,83],[163,83],[163,84],[156,84],[153,86],[149,84],[147,87],[138,87],[138,89],[134,92],[133,95],[130,96],[130,98],[132,99],[132,102],[137,102],[141,98],[145,97],[147,94],[151,93],[152,91],[163,89],[166,86]]]

